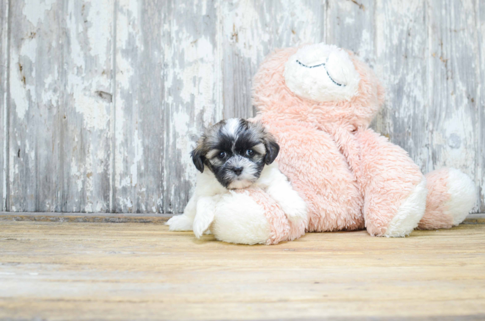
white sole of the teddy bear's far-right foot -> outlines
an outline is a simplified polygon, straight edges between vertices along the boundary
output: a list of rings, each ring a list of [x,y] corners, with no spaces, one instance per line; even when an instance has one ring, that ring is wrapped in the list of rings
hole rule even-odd
[[[468,175],[450,168],[448,172],[449,200],[446,202],[448,214],[453,218],[453,226],[463,222],[475,205],[477,192],[475,184]]]

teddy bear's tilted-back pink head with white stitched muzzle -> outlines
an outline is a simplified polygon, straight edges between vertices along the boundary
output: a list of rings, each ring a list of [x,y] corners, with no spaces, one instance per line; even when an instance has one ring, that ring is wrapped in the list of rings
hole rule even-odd
[[[261,114],[301,121],[368,126],[384,101],[372,69],[350,51],[327,44],[280,49],[254,77]]]

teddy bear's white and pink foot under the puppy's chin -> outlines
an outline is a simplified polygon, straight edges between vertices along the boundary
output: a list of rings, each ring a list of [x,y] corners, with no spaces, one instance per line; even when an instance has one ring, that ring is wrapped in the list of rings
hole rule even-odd
[[[290,229],[279,205],[255,188],[224,194],[210,226],[218,240],[240,244],[276,244],[289,238]]]

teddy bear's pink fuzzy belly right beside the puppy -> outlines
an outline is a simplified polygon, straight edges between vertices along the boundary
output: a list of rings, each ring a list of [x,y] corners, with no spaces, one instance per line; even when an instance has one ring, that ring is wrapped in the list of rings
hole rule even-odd
[[[280,143],[280,170],[308,205],[307,230],[364,228],[358,184],[332,137],[309,124],[262,120]]]

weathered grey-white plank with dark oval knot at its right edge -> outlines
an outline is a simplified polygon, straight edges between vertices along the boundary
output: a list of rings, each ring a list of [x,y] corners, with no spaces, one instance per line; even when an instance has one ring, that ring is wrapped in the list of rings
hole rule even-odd
[[[60,17],[66,29],[65,96],[56,115],[59,211],[109,211],[113,5],[114,0],[68,0]]]

